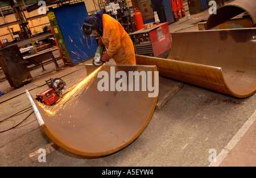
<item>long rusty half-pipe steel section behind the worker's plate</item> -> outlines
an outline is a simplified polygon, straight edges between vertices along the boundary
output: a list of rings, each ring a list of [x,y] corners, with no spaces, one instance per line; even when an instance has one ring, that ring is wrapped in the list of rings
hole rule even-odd
[[[172,34],[168,59],[136,55],[159,75],[246,98],[256,89],[256,28]]]

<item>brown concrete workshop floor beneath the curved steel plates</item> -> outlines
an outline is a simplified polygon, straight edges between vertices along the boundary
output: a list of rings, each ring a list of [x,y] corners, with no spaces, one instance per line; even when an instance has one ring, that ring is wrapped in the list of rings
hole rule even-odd
[[[179,23],[170,24],[170,29],[179,26],[180,30],[176,28],[176,31],[196,30],[197,26],[191,26],[191,29],[187,23],[188,20],[184,18],[183,22],[180,20]],[[57,60],[57,63],[63,65],[62,60]],[[91,63],[91,60],[85,63]],[[43,73],[41,68],[31,71],[34,80],[18,89],[10,88],[7,80],[1,81],[0,90],[5,94],[0,97],[0,121],[31,106],[26,89],[30,90],[31,96],[35,96],[47,89],[45,80],[50,77],[61,77],[67,86],[84,78],[85,63],[58,70],[53,63],[49,63],[45,65],[47,71]],[[178,82],[160,77],[159,98]],[[162,109],[154,111],[143,133],[123,150],[102,158],[85,158],[58,148],[46,156],[45,163],[32,163],[28,156],[51,143],[33,113],[18,127],[0,133],[0,166],[254,167],[255,97],[254,94],[249,98],[237,99],[184,84]],[[1,122],[0,131],[13,127],[30,111]],[[214,154],[217,162],[210,162]]]

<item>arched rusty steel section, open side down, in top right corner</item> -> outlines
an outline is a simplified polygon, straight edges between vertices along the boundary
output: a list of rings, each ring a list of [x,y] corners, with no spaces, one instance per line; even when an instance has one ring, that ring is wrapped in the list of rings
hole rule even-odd
[[[226,22],[243,12],[250,15],[253,26],[256,25],[256,2],[255,0],[236,0],[230,2],[217,9],[216,14],[211,14],[206,23],[206,28],[209,30],[217,26],[218,24]]]

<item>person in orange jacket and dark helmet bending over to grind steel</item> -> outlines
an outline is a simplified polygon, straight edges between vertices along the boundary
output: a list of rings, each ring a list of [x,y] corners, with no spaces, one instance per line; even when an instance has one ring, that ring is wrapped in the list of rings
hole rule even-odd
[[[101,60],[108,62],[114,59],[117,64],[136,65],[133,42],[121,24],[105,14],[105,10],[96,15],[87,16],[82,25],[86,36],[98,36],[98,45],[106,47]]]

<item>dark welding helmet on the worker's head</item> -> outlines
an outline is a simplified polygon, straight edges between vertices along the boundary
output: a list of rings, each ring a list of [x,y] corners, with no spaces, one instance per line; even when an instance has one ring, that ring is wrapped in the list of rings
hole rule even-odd
[[[96,15],[87,16],[82,24],[82,32],[86,36],[99,36],[100,29],[96,26]]]

